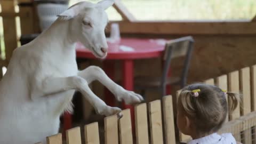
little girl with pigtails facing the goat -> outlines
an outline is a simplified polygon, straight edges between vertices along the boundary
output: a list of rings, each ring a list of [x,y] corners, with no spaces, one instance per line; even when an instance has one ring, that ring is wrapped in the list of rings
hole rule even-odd
[[[178,99],[177,125],[179,130],[190,135],[188,144],[236,144],[231,133],[217,134],[225,122],[230,97],[232,112],[238,105],[238,94],[226,92],[217,86],[196,83],[185,87]]]

